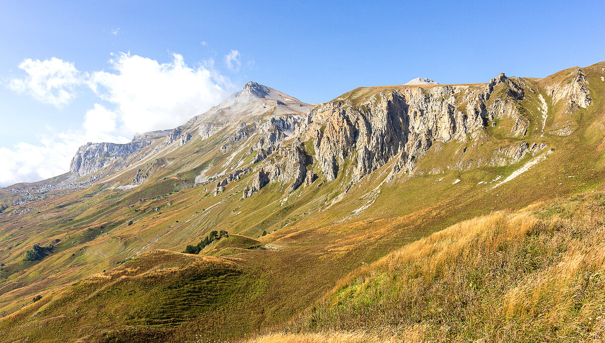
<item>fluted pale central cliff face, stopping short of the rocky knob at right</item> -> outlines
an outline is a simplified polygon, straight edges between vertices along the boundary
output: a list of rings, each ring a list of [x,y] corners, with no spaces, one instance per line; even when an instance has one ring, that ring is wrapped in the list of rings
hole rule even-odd
[[[353,181],[401,155],[408,169],[435,140],[465,140],[466,133],[483,127],[485,111],[464,114],[454,94],[464,86],[442,86],[425,90],[404,88],[382,92],[358,106],[350,101],[327,103],[311,111],[310,136],[316,159],[328,181],[338,175],[345,159],[355,163]]]

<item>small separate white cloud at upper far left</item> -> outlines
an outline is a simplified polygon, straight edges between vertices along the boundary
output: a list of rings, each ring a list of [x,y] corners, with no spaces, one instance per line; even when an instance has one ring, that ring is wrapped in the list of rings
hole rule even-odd
[[[8,87],[57,108],[69,104],[76,97],[75,87],[83,82],[82,73],[74,63],[56,57],[44,61],[26,59],[19,64],[19,69],[27,75],[11,79]]]

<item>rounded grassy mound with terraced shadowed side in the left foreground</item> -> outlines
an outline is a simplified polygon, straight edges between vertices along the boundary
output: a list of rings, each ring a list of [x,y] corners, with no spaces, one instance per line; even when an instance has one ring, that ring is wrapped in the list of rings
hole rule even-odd
[[[111,271],[46,293],[4,318],[0,341],[182,341],[190,338],[183,333],[187,325],[195,325],[198,336],[221,333],[229,338],[248,325],[247,318],[230,316],[229,324],[221,318],[238,311],[255,292],[255,280],[231,261],[166,250],[145,252]]]

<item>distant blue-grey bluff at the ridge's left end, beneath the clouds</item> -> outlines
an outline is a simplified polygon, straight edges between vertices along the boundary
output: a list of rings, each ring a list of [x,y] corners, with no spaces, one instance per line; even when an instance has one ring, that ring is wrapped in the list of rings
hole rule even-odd
[[[145,149],[151,141],[131,142],[126,144],[116,143],[87,143],[77,150],[71,159],[70,171],[78,175],[87,175],[100,170],[116,159]]]

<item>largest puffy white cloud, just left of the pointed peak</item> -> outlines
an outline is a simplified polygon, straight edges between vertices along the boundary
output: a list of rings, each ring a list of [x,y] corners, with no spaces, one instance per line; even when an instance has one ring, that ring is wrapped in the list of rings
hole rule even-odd
[[[111,60],[115,72],[94,72],[93,91],[116,105],[127,133],[179,126],[220,103],[232,88],[228,79],[211,69],[190,68],[183,56],[170,63],[119,54]]]

